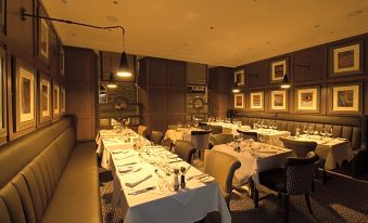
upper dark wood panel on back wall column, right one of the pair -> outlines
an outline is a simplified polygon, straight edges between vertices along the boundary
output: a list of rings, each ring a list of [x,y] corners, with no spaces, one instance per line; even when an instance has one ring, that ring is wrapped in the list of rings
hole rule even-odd
[[[186,87],[186,63],[167,61],[167,86]]]

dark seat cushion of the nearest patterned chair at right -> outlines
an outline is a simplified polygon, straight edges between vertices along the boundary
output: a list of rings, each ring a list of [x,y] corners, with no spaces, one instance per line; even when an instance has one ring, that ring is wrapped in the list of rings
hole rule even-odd
[[[284,169],[277,168],[259,173],[259,183],[276,192],[287,192]]]

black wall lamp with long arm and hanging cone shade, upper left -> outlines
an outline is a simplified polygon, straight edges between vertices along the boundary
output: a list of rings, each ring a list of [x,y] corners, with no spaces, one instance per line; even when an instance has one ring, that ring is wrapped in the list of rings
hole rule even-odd
[[[85,26],[85,27],[97,28],[97,29],[105,29],[105,30],[120,29],[122,34],[123,34],[123,53],[122,53],[122,57],[120,57],[119,68],[117,70],[116,75],[119,76],[119,77],[131,77],[131,71],[128,67],[127,54],[125,53],[125,28],[123,26],[94,26],[94,25],[90,25],[90,24],[77,23],[77,22],[67,21],[67,19],[34,15],[34,14],[26,13],[26,10],[24,8],[21,8],[21,19],[25,21],[26,17],[42,18],[42,19],[47,19],[47,21],[54,21],[54,22],[59,22],[59,23],[73,24],[73,25],[77,25],[77,26]]]

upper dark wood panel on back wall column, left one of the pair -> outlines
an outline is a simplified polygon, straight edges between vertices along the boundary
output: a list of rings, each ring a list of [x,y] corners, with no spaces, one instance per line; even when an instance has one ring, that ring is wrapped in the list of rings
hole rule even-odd
[[[156,87],[166,86],[166,61],[150,57],[147,61],[148,84]]]

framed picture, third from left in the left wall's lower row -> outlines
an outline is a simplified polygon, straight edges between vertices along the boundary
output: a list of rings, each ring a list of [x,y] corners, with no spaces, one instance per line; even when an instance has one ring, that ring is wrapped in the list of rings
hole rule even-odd
[[[40,122],[51,119],[51,82],[50,78],[43,74],[39,76],[39,117]]]

